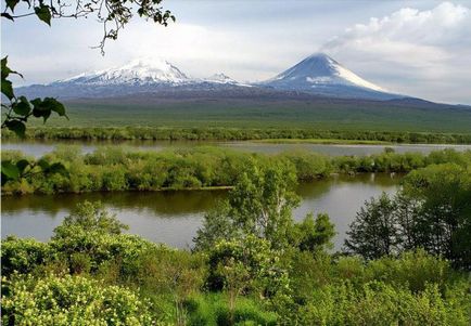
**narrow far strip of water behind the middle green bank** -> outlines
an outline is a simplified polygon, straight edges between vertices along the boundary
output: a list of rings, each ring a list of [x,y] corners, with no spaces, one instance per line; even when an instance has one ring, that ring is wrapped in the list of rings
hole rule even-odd
[[[339,155],[370,155],[378,154],[384,151],[385,145],[322,145],[322,144],[269,144],[269,143],[257,143],[257,142],[191,142],[191,141],[40,141],[40,140],[28,140],[26,142],[18,141],[7,141],[2,142],[2,149],[17,149],[22,151],[24,154],[40,157],[49,152],[52,152],[56,146],[61,145],[77,145],[81,146],[84,153],[90,153],[100,146],[106,145],[119,145],[128,146],[136,149],[153,149],[162,151],[164,148],[179,148],[179,147],[193,147],[199,145],[215,145],[233,148],[237,151],[253,152],[253,153],[265,153],[265,154],[277,154],[287,151],[309,151],[318,152],[327,155],[339,156]],[[471,145],[387,145],[387,147],[394,148],[397,153],[406,152],[420,152],[430,153],[436,149],[443,148],[455,148],[456,151],[471,149]]]

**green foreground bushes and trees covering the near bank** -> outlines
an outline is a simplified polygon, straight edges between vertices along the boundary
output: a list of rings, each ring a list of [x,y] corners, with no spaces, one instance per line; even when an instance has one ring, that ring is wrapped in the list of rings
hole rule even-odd
[[[441,164],[406,178],[411,198],[429,207],[432,235],[447,219],[442,209],[469,225],[468,201],[455,200],[471,191],[469,173],[469,166]],[[335,232],[327,214],[293,220],[295,183],[289,161],[247,164],[229,198],[205,216],[192,251],[123,234],[126,225],[91,203],[66,217],[48,243],[7,238],[2,324],[469,325],[468,275],[451,266],[469,269],[455,255],[466,257],[469,242],[446,259],[433,245],[420,249],[428,240],[421,237],[407,250],[374,257],[329,253]],[[364,211],[373,222],[387,216]],[[450,236],[466,240],[466,223],[455,226]]]

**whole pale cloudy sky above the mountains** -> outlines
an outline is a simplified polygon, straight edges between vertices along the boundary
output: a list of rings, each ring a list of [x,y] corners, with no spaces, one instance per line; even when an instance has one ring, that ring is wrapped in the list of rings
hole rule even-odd
[[[2,1],[2,6],[4,2]],[[324,52],[390,91],[471,104],[471,0],[269,1],[164,0],[177,22],[132,18],[105,55],[93,18],[1,19],[1,52],[25,76],[18,84],[160,57],[192,77],[216,73],[239,81],[273,77]]]

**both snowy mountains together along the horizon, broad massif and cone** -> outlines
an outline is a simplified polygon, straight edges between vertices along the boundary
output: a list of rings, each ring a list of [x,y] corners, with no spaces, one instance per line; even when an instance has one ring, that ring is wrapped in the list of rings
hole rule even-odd
[[[48,84],[16,89],[28,97],[109,99],[162,94],[175,99],[215,96],[251,99],[333,97],[373,101],[409,99],[389,92],[348,70],[323,53],[313,54],[293,67],[262,82],[242,83],[225,74],[191,78],[162,60],[136,60],[122,67],[85,73]],[[412,99],[412,97],[411,97]]]

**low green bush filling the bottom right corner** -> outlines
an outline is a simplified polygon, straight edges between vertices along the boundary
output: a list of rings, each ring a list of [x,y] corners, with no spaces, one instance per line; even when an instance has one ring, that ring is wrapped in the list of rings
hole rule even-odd
[[[464,287],[456,291],[467,297]],[[415,295],[382,282],[346,283],[315,290],[296,318],[301,325],[468,325],[468,307],[432,284]]]

